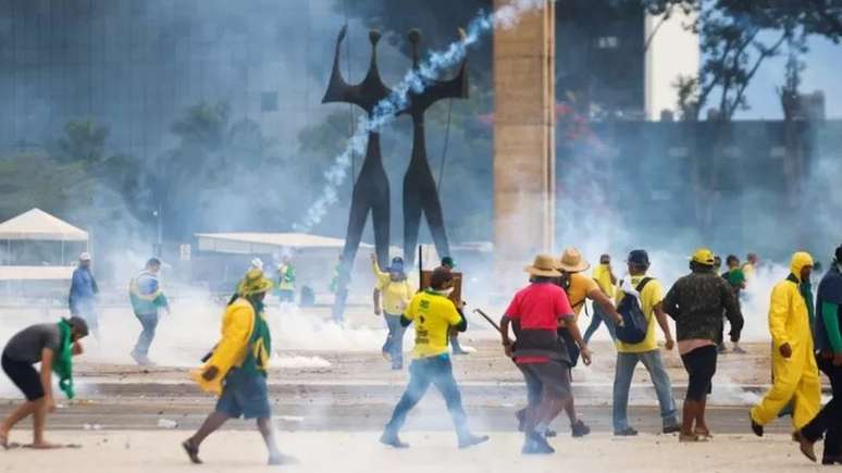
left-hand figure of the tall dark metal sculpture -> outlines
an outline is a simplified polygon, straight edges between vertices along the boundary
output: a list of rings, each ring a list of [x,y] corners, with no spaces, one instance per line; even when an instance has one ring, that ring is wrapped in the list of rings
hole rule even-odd
[[[373,29],[369,33],[371,63],[366,78],[357,85],[349,85],[345,82],[339,71],[339,51],[346,33],[347,26],[344,26],[336,39],[336,52],[333,58],[331,82],[327,85],[327,91],[324,94],[322,103],[352,103],[364,110],[369,117],[371,117],[375,105],[392,94],[392,90],[383,84],[377,71],[376,48],[377,41],[380,41],[380,33]],[[362,239],[362,231],[366,228],[369,212],[372,214],[374,224],[374,245],[376,247],[377,260],[381,266],[385,266],[388,262],[389,211],[388,178],[386,177],[386,171],[383,169],[383,160],[380,152],[380,134],[371,130],[369,132],[366,159],[359,177],[354,184],[351,209],[348,217],[348,233],[343,250],[343,262],[339,265],[336,301],[333,309],[333,316],[337,321],[342,320],[345,311],[350,271],[360,240]]]

